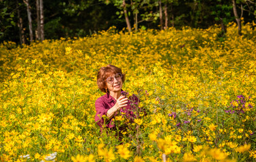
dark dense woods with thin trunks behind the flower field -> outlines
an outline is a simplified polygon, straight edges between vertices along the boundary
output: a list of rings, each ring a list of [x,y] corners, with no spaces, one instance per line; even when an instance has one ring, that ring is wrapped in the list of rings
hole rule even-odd
[[[111,26],[136,32],[217,24],[225,36],[229,22],[242,35],[242,24],[255,17],[255,0],[1,0],[0,43],[81,37]]]

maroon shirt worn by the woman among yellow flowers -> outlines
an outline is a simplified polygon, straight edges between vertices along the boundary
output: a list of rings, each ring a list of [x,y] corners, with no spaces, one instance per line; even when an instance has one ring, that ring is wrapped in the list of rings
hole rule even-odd
[[[113,97],[111,97],[111,95],[109,94],[109,92],[107,92],[105,95],[103,95],[102,97],[99,97],[96,102],[95,102],[95,109],[96,109],[96,115],[95,115],[95,121],[96,124],[98,124],[98,126],[100,126],[100,128],[103,128],[103,126],[105,126],[105,128],[113,128],[115,127],[114,121],[113,119],[115,118],[115,115],[117,113],[115,113],[115,115],[113,115],[113,117],[111,117],[111,119],[108,119],[107,117],[107,111],[109,109],[111,109],[111,107],[113,107],[115,105],[116,101]],[[129,119],[132,119],[134,117],[136,117],[136,115],[133,113],[133,111],[136,109],[135,105],[138,105],[139,103],[139,99],[138,97],[135,96],[135,94],[132,94],[131,97],[129,97],[128,99],[128,105],[126,107],[121,108],[120,112],[124,112],[126,113],[125,116],[128,117]],[[103,115],[105,115],[105,119],[103,117]]]

